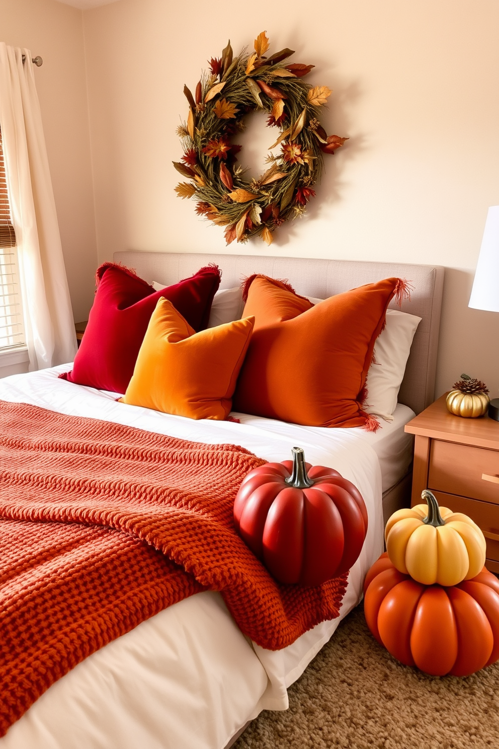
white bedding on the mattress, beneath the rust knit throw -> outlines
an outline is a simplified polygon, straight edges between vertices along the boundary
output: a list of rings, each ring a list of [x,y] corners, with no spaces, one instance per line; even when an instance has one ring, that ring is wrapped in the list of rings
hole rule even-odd
[[[412,412],[400,407],[394,422],[383,422],[376,434],[243,414],[233,414],[240,423],[195,422],[120,404],[114,393],[58,379],[67,369],[6,377],[0,380],[0,398],[187,440],[236,443],[269,461],[290,458],[298,445],[307,461],[336,468],[364,497],[369,530],[350,571],[339,619],[322,622],[272,652],[242,635],[221,595],[200,593],[91,655],[0,739],[0,749],[221,749],[261,710],[287,708],[287,687],[361,599],[364,576],[382,552],[382,471],[376,453],[385,467],[390,464],[396,435]]]

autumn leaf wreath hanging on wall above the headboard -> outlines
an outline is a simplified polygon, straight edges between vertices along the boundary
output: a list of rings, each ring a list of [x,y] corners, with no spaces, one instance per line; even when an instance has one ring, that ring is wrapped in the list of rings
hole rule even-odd
[[[221,58],[209,62],[210,73],[203,74],[194,96],[184,86],[189,115],[177,130],[184,155],[174,166],[190,181],[175,190],[180,198],[198,201],[199,215],[226,227],[227,244],[256,234],[272,243],[275,228],[301,215],[315,195],[322,154],[333,154],[346,141],[327,136],[319,122],[331,89],[302,80],[313,65],[284,65],[293,49],[266,57],[268,49],[265,31],[254,40],[251,55],[244,51],[233,58],[229,42]],[[241,146],[230,139],[257,109],[269,112],[267,124],[281,130],[269,150],[281,150],[269,154],[269,169],[260,178],[247,181],[245,170],[236,166]]]

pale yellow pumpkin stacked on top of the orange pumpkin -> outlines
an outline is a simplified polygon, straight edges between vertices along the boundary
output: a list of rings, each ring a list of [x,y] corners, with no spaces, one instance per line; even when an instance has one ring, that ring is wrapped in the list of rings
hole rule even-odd
[[[468,515],[438,507],[431,491],[427,505],[394,512],[385,528],[388,557],[399,572],[423,585],[451,586],[475,577],[485,564],[486,541]]]

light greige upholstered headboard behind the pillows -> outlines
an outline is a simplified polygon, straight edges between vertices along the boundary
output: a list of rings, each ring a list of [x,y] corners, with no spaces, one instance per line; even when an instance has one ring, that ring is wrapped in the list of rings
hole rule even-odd
[[[433,400],[444,283],[441,266],[190,252],[115,252],[114,261],[135,268],[148,282],[167,285],[192,275],[203,265],[215,263],[222,272],[220,288],[237,286],[252,273],[265,273],[288,279],[299,294],[322,299],[391,276],[407,279],[412,287],[411,298],[402,302],[402,312],[418,315],[422,321],[414,336],[399,401],[420,413]],[[390,306],[397,309],[395,302]]]

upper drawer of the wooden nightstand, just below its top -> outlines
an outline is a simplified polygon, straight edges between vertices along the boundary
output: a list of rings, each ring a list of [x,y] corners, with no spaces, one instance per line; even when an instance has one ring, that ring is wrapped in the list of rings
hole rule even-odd
[[[498,482],[483,479],[483,474],[498,477]],[[432,490],[499,504],[499,452],[432,440],[428,485]]]

